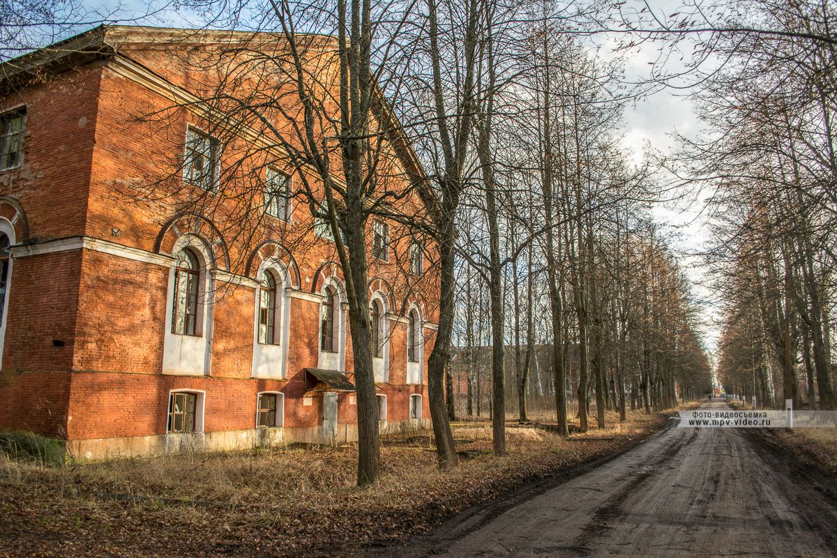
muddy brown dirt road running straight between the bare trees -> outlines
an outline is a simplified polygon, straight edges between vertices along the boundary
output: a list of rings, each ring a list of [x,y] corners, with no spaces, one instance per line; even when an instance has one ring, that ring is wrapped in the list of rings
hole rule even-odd
[[[826,479],[746,429],[670,427],[499,515],[471,514],[394,552],[430,554],[837,556],[837,500]]]

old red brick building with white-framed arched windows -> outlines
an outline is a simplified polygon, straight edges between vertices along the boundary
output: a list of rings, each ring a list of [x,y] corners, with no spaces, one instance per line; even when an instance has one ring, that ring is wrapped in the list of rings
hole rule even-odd
[[[216,40],[96,28],[0,67],[0,428],[66,438],[81,458],[357,437],[345,290],[306,204],[265,191],[264,218],[234,237],[131,196],[164,175],[198,189],[228,164],[234,147],[181,102],[193,77],[180,54]],[[174,100],[164,124],[136,118]],[[243,143],[259,141],[250,132]],[[369,294],[393,431],[429,417],[438,277],[432,245],[389,238],[388,224],[368,231]]]

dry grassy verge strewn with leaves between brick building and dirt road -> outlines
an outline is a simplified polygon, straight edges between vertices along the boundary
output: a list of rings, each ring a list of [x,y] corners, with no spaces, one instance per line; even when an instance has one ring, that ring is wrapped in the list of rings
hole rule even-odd
[[[664,415],[630,412],[557,437],[508,424],[506,457],[487,422],[454,424],[460,467],[441,472],[429,433],[388,437],[383,474],[358,489],[357,448],[287,448],[123,458],[48,468],[0,457],[0,555],[326,555],[396,544],[532,480],[629,448]],[[594,421],[593,421],[594,423]]]

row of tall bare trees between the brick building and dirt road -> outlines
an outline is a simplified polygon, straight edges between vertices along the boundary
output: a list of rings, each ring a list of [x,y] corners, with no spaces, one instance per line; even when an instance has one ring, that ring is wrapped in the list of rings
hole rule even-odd
[[[608,406],[624,418],[626,397],[650,412],[670,407],[677,389],[680,397],[706,389],[696,307],[648,216],[658,192],[618,147],[619,69],[576,38],[585,11],[578,4],[259,0],[192,8],[196,30],[182,33],[182,43],[201,47],[172,54],[191,69],[177,84],[191,96],[134,116],[179,125],[184,114],[198,115],[223,145],[219,187],[195,197],[182,187],[183,161],[172,160],[159,161],[164,178],[122,193],[148,207],[167,201],[172,212],[200,212],[231,243],[249,246],[264,225],[265,169],[293,178],[274,194],[333,240],[333,253],[317,255],[337,261],[346,286],[358,484],[380,470],[368,301],[375,221],[390,223],[393,237],[434,247],[425,256],[439,283],[423,287],[437,289],[427,376],[441,467],[456,464],[445,370],[458,356],[454,343],[475,348],[479,335],[468,330],[480,322],[490,337],[498,455],[506,451],[506,346],[522,419],[529,371],[542,364],[534,347],[548,347],[564,434],[568,398],[578,401],[586,430],[590,398],[603,427]],[[217,29],[237,31],[209,34]],[[288,231],[286,245],[306,248],[299,227]]]

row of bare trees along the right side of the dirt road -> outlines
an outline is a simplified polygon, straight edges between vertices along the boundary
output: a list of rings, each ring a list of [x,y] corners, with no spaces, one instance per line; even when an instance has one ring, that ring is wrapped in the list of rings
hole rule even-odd
[[[726,302],[718,373],[763,407],[791,399],[833,409],[837,9],[748,6],[748,18],[783,38],[716,43],[727,63],[699,95],[712,141],[688,146],[694,176],[716,187],[710,257]]]

